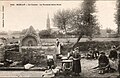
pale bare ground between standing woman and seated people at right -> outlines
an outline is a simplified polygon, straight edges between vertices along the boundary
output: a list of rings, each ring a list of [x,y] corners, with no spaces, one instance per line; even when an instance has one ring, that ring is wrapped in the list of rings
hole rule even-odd
[[[82,59],[81,60],[81,66],[82,66],[82,73],[81,76],[83,77],[109,77],[109,78],[115,78],[118,76],[118,72],[115,73],[105,73],[105,74],[98,74],[97,69],[93,69],[96,67],[98,64],[97,60],[86,60]]]

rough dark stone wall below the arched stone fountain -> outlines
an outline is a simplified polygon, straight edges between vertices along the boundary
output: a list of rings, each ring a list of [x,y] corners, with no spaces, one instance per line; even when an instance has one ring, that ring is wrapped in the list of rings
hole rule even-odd
[[[6,51],[5,59],[21,61],[22,66],[27,63],[35,66],[47,66],[45,51],[42,51],[42,49],[22,49],[22,52]]]

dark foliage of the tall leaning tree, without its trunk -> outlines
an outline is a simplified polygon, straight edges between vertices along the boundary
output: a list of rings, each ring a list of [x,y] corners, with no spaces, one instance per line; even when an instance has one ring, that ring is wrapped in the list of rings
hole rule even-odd
[[[95,0],[84,0],[80,12],[81,15],[78,16],[77,19],[80,19],[81,17],[81,24],[78,27],[79,30],[81,30],[81,32],[83,32],[83,34],[85,34],[86,36],[92,37],[94,34],[99,32],[99,26],[97,23],[95,12]]]

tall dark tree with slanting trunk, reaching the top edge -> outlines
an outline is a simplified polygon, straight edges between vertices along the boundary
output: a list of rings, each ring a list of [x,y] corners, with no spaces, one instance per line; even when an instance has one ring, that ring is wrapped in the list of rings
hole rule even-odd
[[[95,0],[84,0],[82,3],[82,9],[78,10],[78,14],[73,19],[73,25],[76,28],[79,37],[73,47],[79,42],[83,35],[88,36],[90,39],[100,33],[100,27],[98,26],[95,16]]]

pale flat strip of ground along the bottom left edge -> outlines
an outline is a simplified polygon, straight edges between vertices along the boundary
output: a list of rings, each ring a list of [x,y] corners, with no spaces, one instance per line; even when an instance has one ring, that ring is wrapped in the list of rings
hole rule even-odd
[[[0,71],[0,78],[39,78],[43,71]]]

